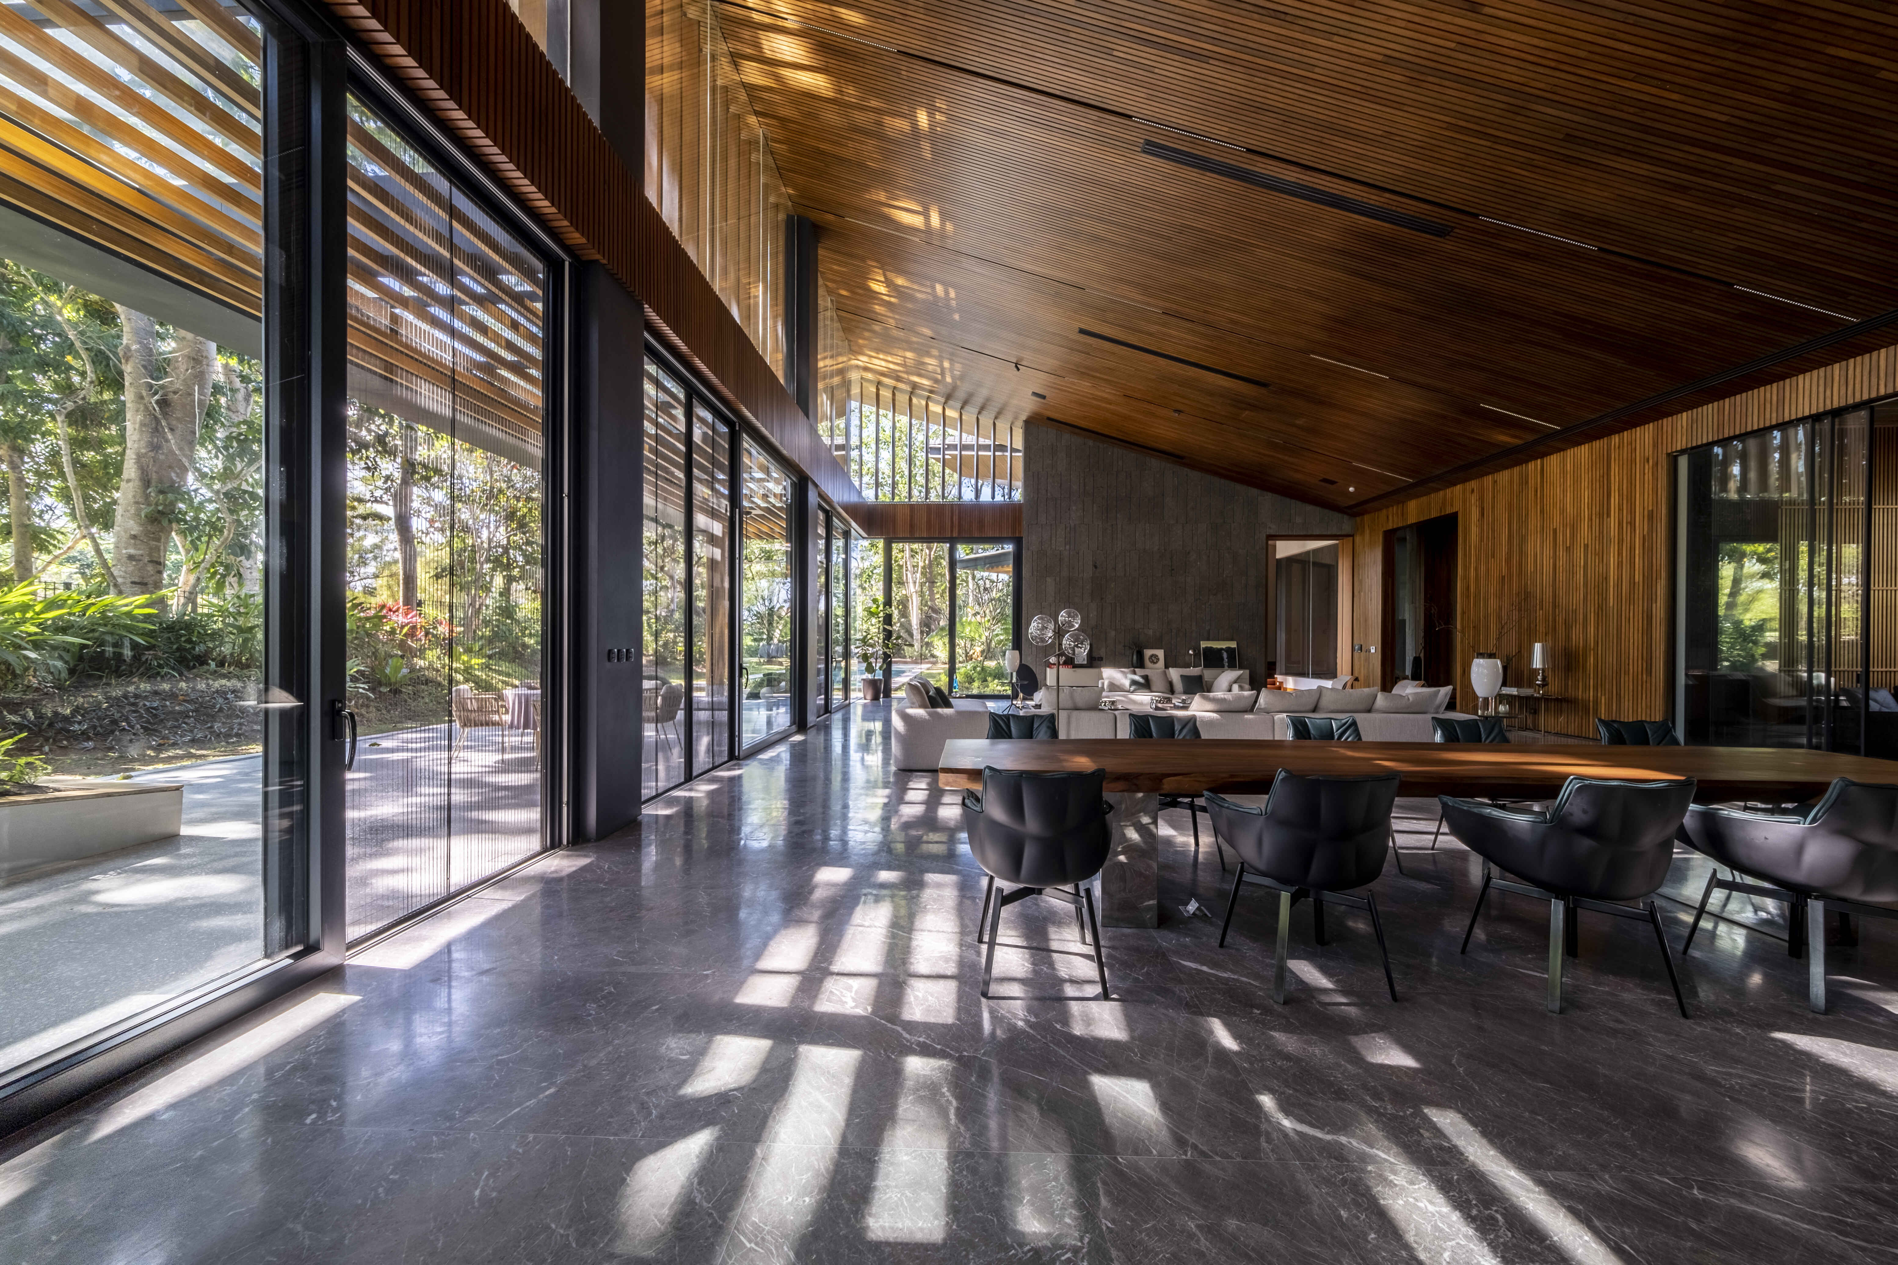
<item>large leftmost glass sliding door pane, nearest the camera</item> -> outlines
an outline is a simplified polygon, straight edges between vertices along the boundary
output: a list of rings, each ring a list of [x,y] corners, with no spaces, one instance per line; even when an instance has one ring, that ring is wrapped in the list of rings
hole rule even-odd
[[[300,63],[194,13],[8,6],[0,1092],[311,939]]]

